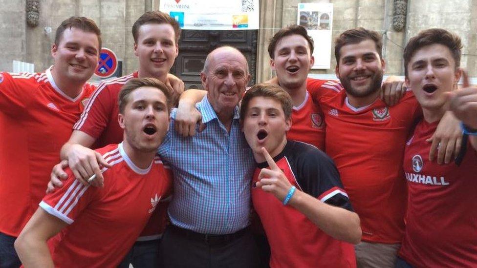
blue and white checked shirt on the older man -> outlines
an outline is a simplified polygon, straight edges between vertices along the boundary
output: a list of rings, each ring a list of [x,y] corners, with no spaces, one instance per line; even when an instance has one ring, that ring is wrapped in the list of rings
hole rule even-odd
[[[230,133],[218,120],[207,95],[196,105],[206,128],[193,137],[170,131],[158,149],[172,167],[174,194],[169,205],[173,225],[199,233],[228,234],[249,225],[252,150],[235,108]]]

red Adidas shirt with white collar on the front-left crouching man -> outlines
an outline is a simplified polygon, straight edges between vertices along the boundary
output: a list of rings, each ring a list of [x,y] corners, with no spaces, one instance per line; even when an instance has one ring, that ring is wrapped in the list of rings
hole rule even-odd
[[[171,190],[171,173],[155,157],[141,169],[122,144],[98,149],[112,167],[104,188],[83,186],[71,172],[40,206],[69,226],[48,241],[55,267],[115,267],[128,253],[158,202]]]

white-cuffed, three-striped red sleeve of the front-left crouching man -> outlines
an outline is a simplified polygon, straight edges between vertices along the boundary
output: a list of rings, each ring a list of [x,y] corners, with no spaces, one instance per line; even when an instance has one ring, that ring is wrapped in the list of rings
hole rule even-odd
[[[40,206],[49,214],[72,224],[94,198],[94,187],[84,186],[75,179],[70,169],[63,187],[47,194]]]

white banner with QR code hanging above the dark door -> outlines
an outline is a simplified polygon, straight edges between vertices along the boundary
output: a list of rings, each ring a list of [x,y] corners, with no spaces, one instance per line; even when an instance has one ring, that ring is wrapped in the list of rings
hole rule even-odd
[[[186,30],[259,28],[259,0],[161,0],[159,9]]]

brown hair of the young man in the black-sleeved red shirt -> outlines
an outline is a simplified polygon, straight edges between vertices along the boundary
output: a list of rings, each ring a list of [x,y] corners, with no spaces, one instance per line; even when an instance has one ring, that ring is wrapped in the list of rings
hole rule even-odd
[[[242,103],[240,104],[240,119],[245,119],[245,114],[248,110],[248,103],[255,97],[265,97],[277,100],[282,104],[282,110],[285,115],[285,119],[291,118],[291,112],[293,104],[290,94],[286,92],[281,86],[269,83],[260,83],[252,86],[243,95]]]

